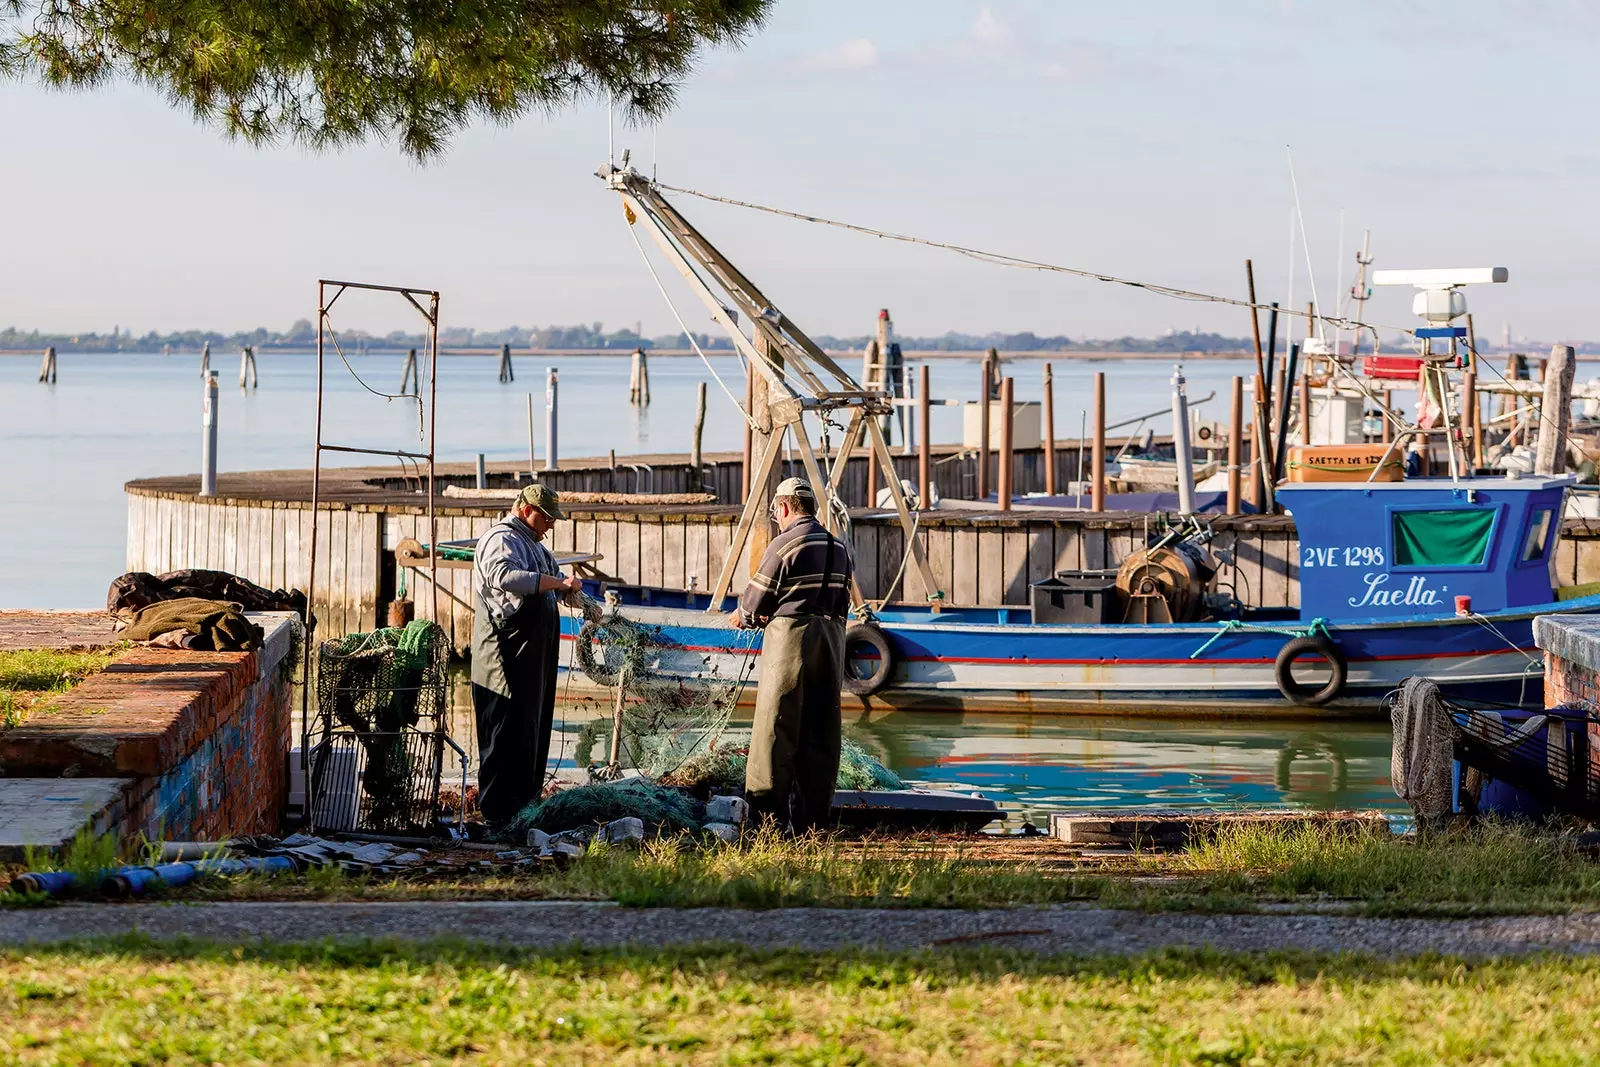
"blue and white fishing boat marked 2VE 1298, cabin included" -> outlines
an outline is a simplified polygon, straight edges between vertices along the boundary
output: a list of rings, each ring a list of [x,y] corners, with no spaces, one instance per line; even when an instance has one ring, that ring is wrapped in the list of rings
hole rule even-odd
[[[1277,493],[1299,531],[1299,609],[1234,605],[1194,622],[1091,624],[1035,617],[1042,597],[1032,611],[885,609],[851,622],[846,685],[869,707],[1373,713],[1403,678],[1427,675],[1446,694],[1538,704],[1533,619],[1600,611],[1600,593],[1570,597],[1552,577],[1573,482],[1285,483]],[[1165,557],[1170,571],[1176,557],[1203,574],[1206,552],[1190,537],[1136,553],[1136,563],[1158,577],[1157,563]],[[1138,585],[1131,597],[1110,581],[1062,585],[1067,598],[1112,598],[1110,617],[1141,609]],[[718,614],[731,600],[712,609],[706,593],[608,582],[594,592],[646,632],[651,669],[688,685],[749,678],[746,694],[760,683],[758,638]],[[1157,592],[1166,593],[1157,606],[1168,606],[1173,590]],[[565,627],[584,645],[578,661],[603,664],[603,627]],[[606,680],[603,667],[594,673]]]

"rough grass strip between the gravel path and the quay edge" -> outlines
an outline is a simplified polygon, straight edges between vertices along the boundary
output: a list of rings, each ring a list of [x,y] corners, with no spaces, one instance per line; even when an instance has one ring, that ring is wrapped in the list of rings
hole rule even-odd
[[[464,854],[478,859],[486,853]],[[130,862],[147,862],[136,853]],[[114,862],[107,841],[56,861]],[[0,877],[18,873],[16,869]],[[3,881],[0,881],[3,885]],[[1496,915],[1600,907],[1600,864],[1570,833],[1482,825],[1429,840],[1243,827],[1174,854],[1080,857],[1050,840],[805,838],[739,846],[661,838],[592,848],[565,867],[352,875],[338,869],[218,880],[178,899],[589,899],[634,907],[1014,907],[1098,902],[1142,910],[1333,907],[1366,915]],[[0,904],[24,904],[0,894]]]

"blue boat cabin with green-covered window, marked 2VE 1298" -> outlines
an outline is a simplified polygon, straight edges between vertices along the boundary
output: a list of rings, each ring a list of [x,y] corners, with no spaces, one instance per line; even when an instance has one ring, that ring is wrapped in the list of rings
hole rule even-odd
[[[1573,475],[1285,483],[1299,533],[1301,617],[1490,613],[1555,600],[1552,558]]]

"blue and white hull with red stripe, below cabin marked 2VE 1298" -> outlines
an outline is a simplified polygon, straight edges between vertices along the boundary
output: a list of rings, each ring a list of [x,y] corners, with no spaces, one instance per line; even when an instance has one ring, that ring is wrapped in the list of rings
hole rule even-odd
[[[624,601],[624,614],[656,643],[651,667],[690,683],[742,680],[741,701],[754,701],[758,635],[728,629],[704,606],[661,605],[661,597],[656,605]],[[1373,715],[1402,680],[1427,675],[1446,694],[1539,704],[1544,678],[1533,619],[1557,611],[1600,611],[1600,597],[1491,616],[1328,622],[1347,678],[1318,707],[1278,689],[1278,651],[1304,632],[1296,621],[1034,625],[1013,621],[1026,611],[888,613],[880,627],[896,656],[890,678],[878,693],[846,701],[952,710]],[[563,627],[571,641],[578,622],[565,619]],[[563,654],[563,662],[571,657]],[[573,673],[582,685],[582,673]]]

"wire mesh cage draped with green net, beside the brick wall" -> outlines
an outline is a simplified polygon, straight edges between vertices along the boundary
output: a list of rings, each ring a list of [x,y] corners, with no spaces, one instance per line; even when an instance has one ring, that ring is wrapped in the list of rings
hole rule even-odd
[[[317,649],[312,816],[323,829],[429,829],[438,801],[450,641],[434,622]]]

